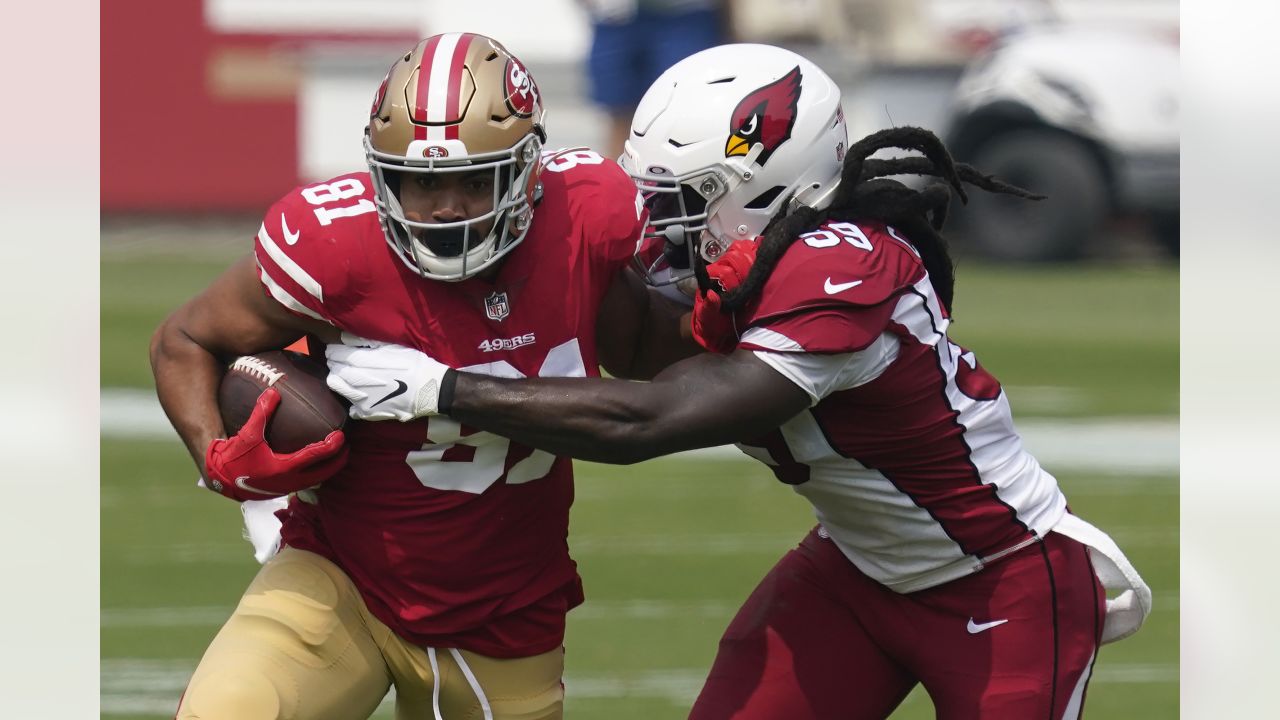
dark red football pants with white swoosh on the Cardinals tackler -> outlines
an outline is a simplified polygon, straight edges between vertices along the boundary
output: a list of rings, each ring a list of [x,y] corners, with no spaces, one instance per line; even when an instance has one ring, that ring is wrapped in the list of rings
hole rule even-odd
[[[899,594],[814,529],[733,618],[690,720],[878,720],[915,683],[940,720],[1074,720],[1105,603],[1087,548],[1056,533]]]

